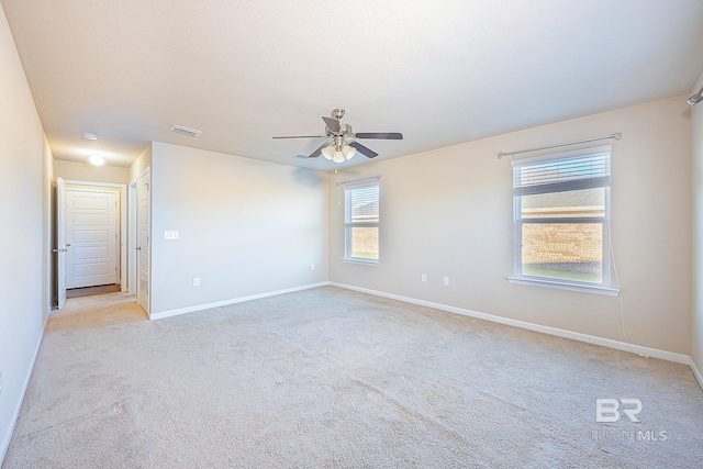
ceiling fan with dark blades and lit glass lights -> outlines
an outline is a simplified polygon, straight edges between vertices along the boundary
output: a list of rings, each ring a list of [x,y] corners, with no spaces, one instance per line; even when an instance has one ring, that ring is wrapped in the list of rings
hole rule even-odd
[[[331,118],[322,118],[325,123],[324,135],[292,135],[274,138],[328,138],[327,142],[320,145],[320,147],[310,155],[298,154],[295,156],[301,158],[316,158],[322,155],[334,163],[344,163],[347,159],[352,159],[357,152],[368,158],[375,158],[378,156],[378,153],[361,145],[357,139],[403,139],[403,134],[399,132],[354,133],[352,125],[342,122],[342,118],[344,118],[344,109],[333,109]]]

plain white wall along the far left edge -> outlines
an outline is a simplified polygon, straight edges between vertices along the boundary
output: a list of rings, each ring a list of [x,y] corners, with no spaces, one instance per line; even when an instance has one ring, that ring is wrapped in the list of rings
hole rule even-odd
[[[52,155],[0,10],[0,462],[49,313]]]

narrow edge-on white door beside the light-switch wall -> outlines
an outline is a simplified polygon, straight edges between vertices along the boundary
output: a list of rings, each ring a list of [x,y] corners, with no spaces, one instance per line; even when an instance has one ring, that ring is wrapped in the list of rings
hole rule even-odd
[[[146,168],[137,183],[137,256],[136,256],[136,301],[149,312],[149,249],[150,249],[150,187],[149,168]]]

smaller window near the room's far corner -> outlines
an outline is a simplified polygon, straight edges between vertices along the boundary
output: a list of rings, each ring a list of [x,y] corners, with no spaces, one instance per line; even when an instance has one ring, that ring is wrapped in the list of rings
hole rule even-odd
[[[379,261],[379,185],[344,190],[345,260]]]

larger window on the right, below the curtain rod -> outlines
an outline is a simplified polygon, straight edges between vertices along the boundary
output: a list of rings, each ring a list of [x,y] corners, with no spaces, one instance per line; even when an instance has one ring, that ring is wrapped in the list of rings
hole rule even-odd
[[[609,288],[611,147],[515,160],[515,277]]]

